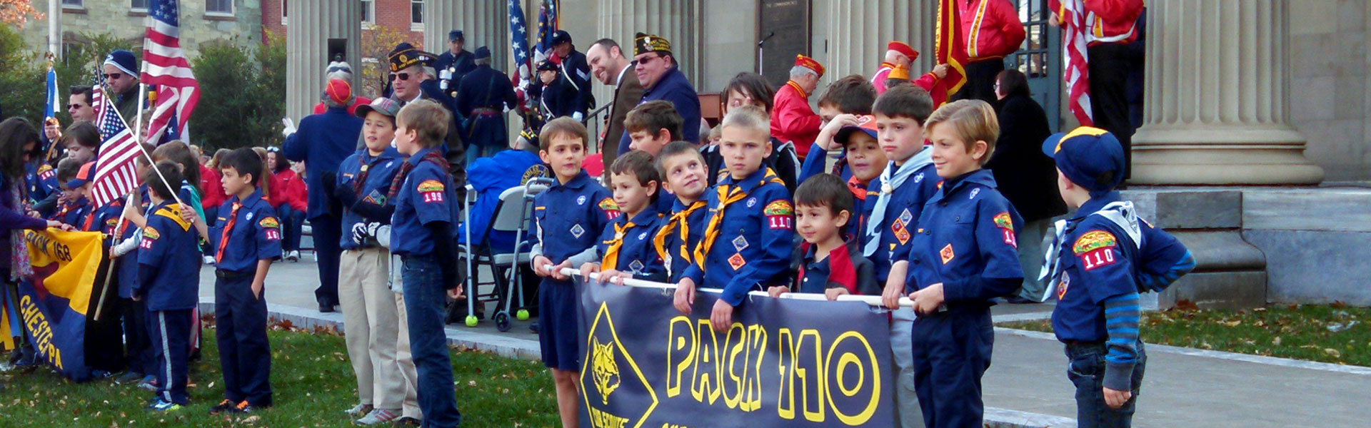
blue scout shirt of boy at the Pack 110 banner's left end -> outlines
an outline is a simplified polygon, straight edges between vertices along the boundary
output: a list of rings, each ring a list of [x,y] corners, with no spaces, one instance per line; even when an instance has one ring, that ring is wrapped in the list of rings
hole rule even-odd
[[[599,243],[600,233],[618,215],[613,195],[585,170],[533,198],[542,254],[554,265]]]

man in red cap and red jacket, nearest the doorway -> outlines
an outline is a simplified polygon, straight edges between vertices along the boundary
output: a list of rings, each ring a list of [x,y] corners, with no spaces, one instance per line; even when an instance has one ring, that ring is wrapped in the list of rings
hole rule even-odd
[[[795,66],[790,69],[790,81],[776,91],[772,110],[772,137],[795,144],[801,159],[809,154],[809,145],[818,137],[823,119],[809,108],[809,95],[818,88],[824,77],[824,64],[813,58],[795,55]]]

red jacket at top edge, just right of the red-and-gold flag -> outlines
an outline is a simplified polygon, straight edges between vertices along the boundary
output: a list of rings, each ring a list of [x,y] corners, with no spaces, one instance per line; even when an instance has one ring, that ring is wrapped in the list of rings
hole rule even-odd
[[[967,59],[1004,58],[1024,43],[1024,25],[1009,0],[957,0]]]

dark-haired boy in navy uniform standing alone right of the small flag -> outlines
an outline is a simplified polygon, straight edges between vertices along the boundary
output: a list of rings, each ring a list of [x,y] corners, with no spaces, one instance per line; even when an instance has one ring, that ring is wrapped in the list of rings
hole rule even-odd
[[[265,167],[251,148],[219,160],[223,192],[214,228],[193,210],[182,210],[214,251],[214,318],[223,401],[218,413],[251,413],[271,406],[271,348],[266,339],[266,273],[281,258],[281,222],[258,185]]]

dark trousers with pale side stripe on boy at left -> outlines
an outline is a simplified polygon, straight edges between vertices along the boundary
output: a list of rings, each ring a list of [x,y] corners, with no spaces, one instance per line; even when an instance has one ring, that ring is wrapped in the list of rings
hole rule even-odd
[[[158,398],[185,405],[186,365],[191,358],[191,310],[155,310],[148,313],[148,336],[158,379]]]

